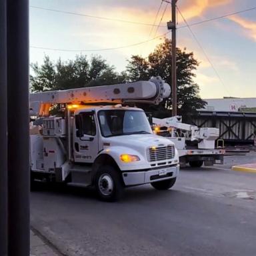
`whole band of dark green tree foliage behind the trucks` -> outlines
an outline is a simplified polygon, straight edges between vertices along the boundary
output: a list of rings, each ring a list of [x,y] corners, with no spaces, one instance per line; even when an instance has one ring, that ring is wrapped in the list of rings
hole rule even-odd
[[[101,56],[90,60],[85,55],[77,55],[74,60],[56,63],[45,56],[43,65],[31,64],[31,91],[49,91],[87,86],[110,85],[138,80],[148,80],[160,75],[171,85],[171,40],[165,39],[147,58],[133,55],[125,71],[117,73]],[[177,48],[177,112],[183,117],[195,114],[196,109],[206,104],[199,97],[199,86],[194,83],[194,71],[199,63],[193,53]],[[171,115],[171,97],[159,106],[139,106],[158,117]]]

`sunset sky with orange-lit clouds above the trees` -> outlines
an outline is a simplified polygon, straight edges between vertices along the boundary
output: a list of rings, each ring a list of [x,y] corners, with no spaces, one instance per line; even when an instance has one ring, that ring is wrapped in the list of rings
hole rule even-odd
[[[191,25],[256,7],[256,1],[178,0],[177,6]],[[75,55],[83,53],[89,58],[103,56],[117,71],[125,69],[131,55],[146,57],[163,42],[161,36],[168,32],[166,23],[171,20],[171,5],[165,2],[161,5],[161,0],[30,0],[29,11],[31,63],[43,63],[45,55],[56,61],[59,57],[74,59]],[[158,29],[151,26],[154,21],[160,25]],[[179,14],[177,23],[177,47],[193,51],[200,63],[194,81],[203,99],[256,97],[256,9],[191,25],[199,44],[184,27]],[[170,38],[171,33],[166,36]],[[142,43],[145,41],[148,42]],[[121,48],[109,50],[118,47]]]

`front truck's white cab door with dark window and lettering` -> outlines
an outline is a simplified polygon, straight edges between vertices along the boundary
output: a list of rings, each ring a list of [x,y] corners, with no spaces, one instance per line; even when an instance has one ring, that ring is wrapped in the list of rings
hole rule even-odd
[[[99,151],[95,111],[75,115],[73,152],[75,162],[93,163]]]

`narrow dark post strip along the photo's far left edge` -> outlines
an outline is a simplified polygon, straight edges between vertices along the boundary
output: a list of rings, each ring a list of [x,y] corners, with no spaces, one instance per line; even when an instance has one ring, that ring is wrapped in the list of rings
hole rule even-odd
[[[0,1],[0,256],[7,256],[7,29]]]

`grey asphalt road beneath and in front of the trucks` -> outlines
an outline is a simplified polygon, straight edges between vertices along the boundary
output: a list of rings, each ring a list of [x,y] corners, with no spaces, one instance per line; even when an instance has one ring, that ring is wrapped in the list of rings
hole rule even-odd
[[[118,203],[88,189],[31,193],[31,225],[66,255],[256,255],[256,174],[225,165],[186,168],[169,191],[127,189]],[[217,169],[216,169],[217,168]]]

